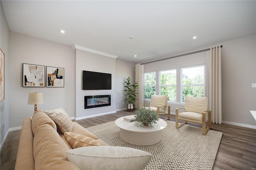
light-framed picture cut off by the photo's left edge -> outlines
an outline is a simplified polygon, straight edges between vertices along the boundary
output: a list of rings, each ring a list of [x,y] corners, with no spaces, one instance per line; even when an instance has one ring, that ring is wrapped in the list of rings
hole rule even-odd
[[[0,101],[4,100],[4,52],[0,49]]]

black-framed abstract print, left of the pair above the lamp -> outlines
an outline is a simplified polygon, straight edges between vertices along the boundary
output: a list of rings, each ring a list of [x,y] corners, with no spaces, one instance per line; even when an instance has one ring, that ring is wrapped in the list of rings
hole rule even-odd
[[[23,63],[23,87],[45,87],[45,66]]]

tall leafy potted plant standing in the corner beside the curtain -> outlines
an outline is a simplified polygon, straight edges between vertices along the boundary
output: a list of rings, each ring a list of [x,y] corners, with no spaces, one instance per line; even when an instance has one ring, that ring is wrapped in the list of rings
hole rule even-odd
[[[126,89],[124,90],[126,92],[126,95],[124,96],[124,101],[127,103],[127,109],[133,109],[136,105],[137,100],[137,92],[136,90],[139,88],[138,83],[134,82],[134,84],[130,83],[131,79],[128,77],[126,81],[124,82],[126,85],[124,86]]]

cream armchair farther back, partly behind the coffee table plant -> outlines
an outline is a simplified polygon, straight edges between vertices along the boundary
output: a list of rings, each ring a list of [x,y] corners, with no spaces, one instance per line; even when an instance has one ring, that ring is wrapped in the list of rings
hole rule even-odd
[[[168,97],[164,95],[151,95],[150,103],[142,103],[141,107],[146,107],[149,105],[150,110],[155,111],[158,115],[166,115],[170,119],[170,106],[167,106]],[[168,114],[166,114],[166,107],[168,107]]]

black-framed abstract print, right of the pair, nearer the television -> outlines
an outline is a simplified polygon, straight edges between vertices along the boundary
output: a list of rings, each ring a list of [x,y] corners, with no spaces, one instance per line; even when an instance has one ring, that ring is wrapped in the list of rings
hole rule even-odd
[[[64,68],[46,66],[46,87],[64,87]]]

